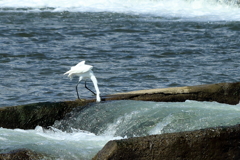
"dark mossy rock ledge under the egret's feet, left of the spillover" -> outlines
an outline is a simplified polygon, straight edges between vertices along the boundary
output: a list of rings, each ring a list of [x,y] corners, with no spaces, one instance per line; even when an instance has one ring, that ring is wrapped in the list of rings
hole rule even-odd
[[[37,125],[48,127],[62,119],[73,108],[85,107],[93,101],[42,102],[0,108],[0,127],[34,129]]]

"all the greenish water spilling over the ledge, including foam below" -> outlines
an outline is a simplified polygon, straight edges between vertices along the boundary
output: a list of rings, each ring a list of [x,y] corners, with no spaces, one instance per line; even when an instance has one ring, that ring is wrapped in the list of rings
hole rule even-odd
[[[112,101],[76,108],[52,129],[0,128],[0,153],[26,148],[47,159],[91,159],[109,140],[230,126],[240,106],[216,102]]]

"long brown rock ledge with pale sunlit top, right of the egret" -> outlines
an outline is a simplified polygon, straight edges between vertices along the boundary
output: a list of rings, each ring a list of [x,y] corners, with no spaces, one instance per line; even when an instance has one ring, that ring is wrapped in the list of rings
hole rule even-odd
[[[109,95],[106,100],[143,100],[156,102],[196,100],[237,104],[240,100],[240,82],[132,91]]]

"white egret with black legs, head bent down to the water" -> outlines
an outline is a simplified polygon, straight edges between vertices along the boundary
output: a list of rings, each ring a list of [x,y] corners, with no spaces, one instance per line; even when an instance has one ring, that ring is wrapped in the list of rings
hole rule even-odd
[[[70,78],[70,80],[72,80],[73,76],[79,76],[79,81],[76,85],[78,99],[80,99],[79,94],[78,94],[78,84],[80,83],[81,80],[85,80],[85,88],[87,88],[94,95],[96,95],[96,101],[100,102],[101,101],[100,91],[98,89],[97,79],[93,74],[92,68],[93,68],[93,66],[86,65],[85,61],[82,61],[82,62],[79,62],[76,66],[71,67],[71,69],[69,71],[67,71],[66,73],[64,73],[64,75],[68,74],[68,77]],[[87,87],[86,79],[88,79],[88,78],[90,78],[92,80],[94,88],[96,90],[96,94]]]

